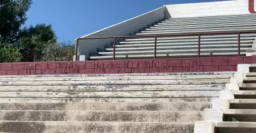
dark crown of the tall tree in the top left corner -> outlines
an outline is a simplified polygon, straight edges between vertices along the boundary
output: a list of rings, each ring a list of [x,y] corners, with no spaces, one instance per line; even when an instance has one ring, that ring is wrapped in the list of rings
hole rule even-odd
[[[19,39],[20,26],[25,24],[26,12],[32,0],[0,0],[0,38],[15,43]]]

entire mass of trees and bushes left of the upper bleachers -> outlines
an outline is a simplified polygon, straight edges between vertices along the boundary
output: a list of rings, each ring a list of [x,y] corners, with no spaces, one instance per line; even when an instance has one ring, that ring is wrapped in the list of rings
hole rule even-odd
[[[32,0],[0,0],[0,62],[68,61],[74,45],[58,43],[51,25],[20,29]]]

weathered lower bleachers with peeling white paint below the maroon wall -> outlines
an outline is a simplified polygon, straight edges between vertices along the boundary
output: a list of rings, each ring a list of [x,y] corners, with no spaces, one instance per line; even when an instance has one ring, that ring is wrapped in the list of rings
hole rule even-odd
[[[0,132],[192,133],[232,76],[1,76]]]

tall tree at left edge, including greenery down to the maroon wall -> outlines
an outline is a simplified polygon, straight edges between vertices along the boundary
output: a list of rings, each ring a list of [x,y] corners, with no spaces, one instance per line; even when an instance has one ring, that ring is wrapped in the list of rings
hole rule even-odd
[[[16,45],[31,4],[32,0],[0,0],[0,62],[20,61]]]

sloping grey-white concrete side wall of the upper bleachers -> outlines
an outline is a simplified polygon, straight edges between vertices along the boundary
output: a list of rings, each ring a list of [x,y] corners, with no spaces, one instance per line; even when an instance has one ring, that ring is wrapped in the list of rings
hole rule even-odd
[[[157,8],[156,10],[149,11],[138,17],[131,18],[116,25],[112,25],[92,34],[88,34],[81,38],[102,37],[102,36],[128,36],[133,32],[139,31],[148,25],[164,18],[166,7]],[[76,40],[75,40],[76,41]],[[79,55],[85,55],[87,59],[90,53],[97,53],[97,48],[104,49],[104,46],[111,45],[113,39],[99,39],[99,40],[79,40]]]

